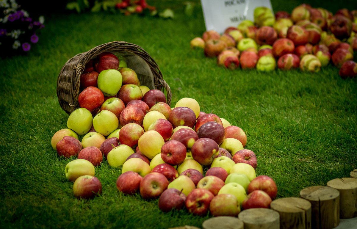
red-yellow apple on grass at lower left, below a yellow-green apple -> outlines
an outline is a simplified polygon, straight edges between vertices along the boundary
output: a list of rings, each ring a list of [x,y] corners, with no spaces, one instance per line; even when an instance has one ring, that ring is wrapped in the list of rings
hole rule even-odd
[[[100,180],[91,175],[83,175],[73,183],[73,194],[78,199],[91,199],[102,193]]]

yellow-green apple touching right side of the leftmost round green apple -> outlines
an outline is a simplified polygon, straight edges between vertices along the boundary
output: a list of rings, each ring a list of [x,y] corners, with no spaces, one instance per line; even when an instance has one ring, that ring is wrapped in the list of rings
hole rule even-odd
[[[102,110],[99,114],[94,116],[93,127],[96,132],[103,136],[108,136],[119,127],[119,120],[113,112]]]

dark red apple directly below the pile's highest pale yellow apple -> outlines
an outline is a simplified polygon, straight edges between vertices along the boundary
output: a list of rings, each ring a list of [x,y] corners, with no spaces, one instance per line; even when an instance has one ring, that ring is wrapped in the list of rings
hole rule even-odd
[[[189,107],[175,107],[170,113],[169,121],[173,128],[178,126],[193,128],[196,123],[196,114]]]

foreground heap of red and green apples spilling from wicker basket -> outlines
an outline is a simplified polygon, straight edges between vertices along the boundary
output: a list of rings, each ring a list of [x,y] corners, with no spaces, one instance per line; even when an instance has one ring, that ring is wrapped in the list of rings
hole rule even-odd
[[[270,207],[276,184],[256,177],[256,155],[244,149],[240,127],[201,111],[193,98],[171,108],[162,91],[138,86],[135,71],[109,52],[86,64],[80,85],[80,108],[51,139],[60,158],[73,159],[64,170],[75,197],[101,194],[95,171],[108,163],[121,168],[113,183],[120,192],[159,198],[165,212],[237,216],[241,208]]]

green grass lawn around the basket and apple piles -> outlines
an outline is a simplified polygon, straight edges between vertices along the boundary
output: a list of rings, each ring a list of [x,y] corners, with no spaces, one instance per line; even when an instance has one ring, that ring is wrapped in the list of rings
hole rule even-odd
[[[357,9],[352,0],[305,2],[332,12]],[[291,12],[301,3],[272,0],[275,11]],[[165,4],[175,4],[174,20],[108,12],[49,15],[39,43],[27,55],[0,60],[1,228],[165,229],[201,227],[209,217],[186,210],[163,213],[157,200],[119,193],[120,169],[106,161],[96,168],[102,195],[73,196],[64,174],[70,159],[57,157],[50,144],[68,117],[57,100],[57,77],[69,58],[110,41],[137,44],[154,58],[170,85],[173,105],[195,98],[202,111],[240,126],[248,137],[246,148],[257,155],[257,175],[276,181],[278,197],[297,197],[305,187],[349,177],[357,168],[356,78],[342,79],[331,65],[318,73],[218,67],[216,58],[189,46],[205,31],[199,6],[186,16],[182,1]]]

